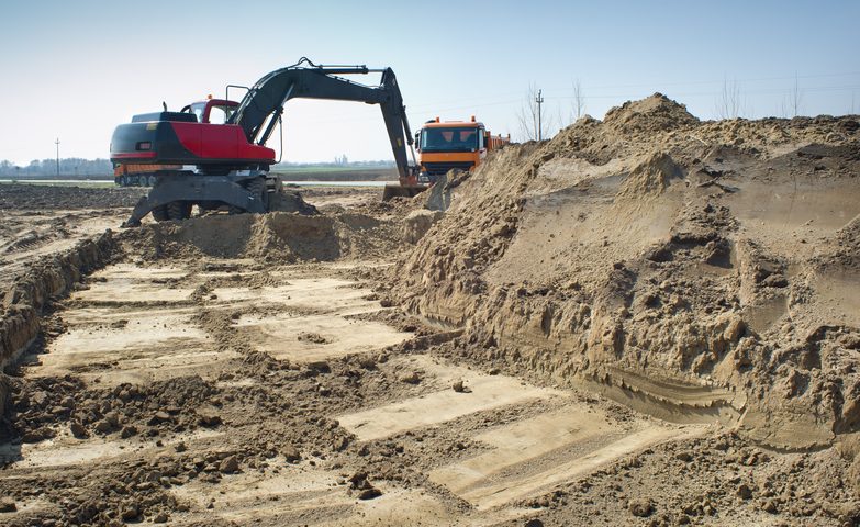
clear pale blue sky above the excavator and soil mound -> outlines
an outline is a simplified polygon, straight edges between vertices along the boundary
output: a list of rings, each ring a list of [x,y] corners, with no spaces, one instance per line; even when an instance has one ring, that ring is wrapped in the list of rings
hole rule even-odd
[[[557,120],[576,79],[597,119],[655,91],[714,119],[724,79],[745,116],[779,116],[795,76],[804,114],[860,113],[858,21],[856,0],[4,0],[0,159],[53,157],[56,137],[63,157],[107,157],[132,114],[250,85],[301,56],[391,66],[413,128],[474,114],[516,136],[529,83]],[[291,101],[286,119],[284,160],[392,158],[376,106]]]

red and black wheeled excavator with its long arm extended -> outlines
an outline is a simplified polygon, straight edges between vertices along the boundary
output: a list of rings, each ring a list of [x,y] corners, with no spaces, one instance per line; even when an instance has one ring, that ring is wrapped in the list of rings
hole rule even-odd
[[[342,77],[371,72],[382,74],[379,86]],[[258,80],[223,124],[165,106],[161,112],[135,115],[131,123],[118,126],[111,139],[115,165],[168,167],[147,176],[154,181],[153,189],[124,225],[138,226],[150,212],[156,221],[183,220],[190,217],[193,205],[204,211],[226,206],[232,212],[267,212],[272,194],[280,191],[280,180],[269,171],[277,161],[266,143],[281,122],[287,101],[297,98],[379,104],[403,188],[401,195],[414,195],[426,188],[417,182],[412,133],[394,71],[316,65],[303,57]]]

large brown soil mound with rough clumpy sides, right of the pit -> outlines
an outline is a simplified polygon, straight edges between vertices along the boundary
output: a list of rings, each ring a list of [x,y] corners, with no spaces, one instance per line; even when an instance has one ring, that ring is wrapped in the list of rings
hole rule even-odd
[[[476,360],[779,449],[860,429],[860,124],[664,96],[509,147],[389,277]]]

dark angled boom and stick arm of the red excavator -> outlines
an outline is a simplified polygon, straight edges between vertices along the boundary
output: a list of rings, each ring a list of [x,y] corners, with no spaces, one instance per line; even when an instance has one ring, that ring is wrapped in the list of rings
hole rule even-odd
[[[379,86],[370,87],[338,77],[381,72]],[[412,176],[406,145],[412,150],[412,132],[406,120],[406,108],[398,79],[391,68],[368,69],[367,66],[320,66],[302,58],[299,63],[272,71],[254,85],[232,115],[230,124],[237,124],[248,143],[265,145],[290,99],[328,99],[379,104],[386,122],[391,150],[401,180]]]

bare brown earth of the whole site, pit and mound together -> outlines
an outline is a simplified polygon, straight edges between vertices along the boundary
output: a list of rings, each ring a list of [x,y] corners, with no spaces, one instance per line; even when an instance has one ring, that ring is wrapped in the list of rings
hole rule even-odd
[[[68,203],[4,271],[0,523],[857,525],[857,130],[655,96],[411,201]]]

